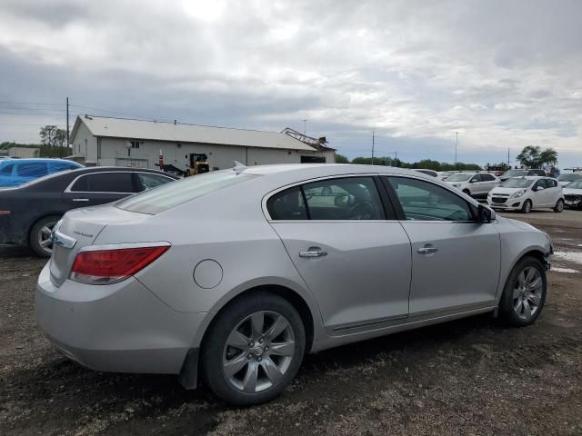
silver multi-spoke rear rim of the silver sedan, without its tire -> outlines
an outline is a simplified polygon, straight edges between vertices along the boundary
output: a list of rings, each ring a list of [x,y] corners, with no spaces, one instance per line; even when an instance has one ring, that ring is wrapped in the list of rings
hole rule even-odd
[[[285,316],[270,311],[248,315],[226,339],[226,381],[238,391],[265,391],[283,378],[295,348],[295,334]]]

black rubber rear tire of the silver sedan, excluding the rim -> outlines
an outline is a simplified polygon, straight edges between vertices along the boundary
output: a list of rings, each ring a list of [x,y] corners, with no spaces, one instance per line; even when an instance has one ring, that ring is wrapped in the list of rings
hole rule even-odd
[[[230,332],[251,313],[273,311],[282,314],[291,324],[295,335],[296,353],[283,379],[266,391],[245,393],[236,390],[223,374],[223,352]],[[237,298],[216,315],[205,335],[202,344],[201,366],[202,380],[216,395],[229,404],[252,406],[271,401],[285,391],[286,386],[296,376],[306,350],[306,333],[301,316],[284,298],[270,292],[256,292]]]

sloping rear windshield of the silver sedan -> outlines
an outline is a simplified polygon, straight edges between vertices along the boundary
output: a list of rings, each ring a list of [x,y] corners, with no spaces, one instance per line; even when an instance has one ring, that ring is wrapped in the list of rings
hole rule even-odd
[[[115,205],[125,211],[156,214],[254,177],[260,176],[232,171],[198,174],[127,197]]]

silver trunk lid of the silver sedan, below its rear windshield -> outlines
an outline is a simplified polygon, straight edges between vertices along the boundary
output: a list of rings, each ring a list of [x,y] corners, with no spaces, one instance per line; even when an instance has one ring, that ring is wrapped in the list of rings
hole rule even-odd
[[[92,245],[107,224],[141,221],[148,216],[143,213],[123,211],[108,204],[75,209],[65,213],[60,225],[55,227],[55,232],[63,235],[65,243],[53,244],[49,267],[51,282],[56,287],[65,282],[75,262],[76,254],[83,247]]]

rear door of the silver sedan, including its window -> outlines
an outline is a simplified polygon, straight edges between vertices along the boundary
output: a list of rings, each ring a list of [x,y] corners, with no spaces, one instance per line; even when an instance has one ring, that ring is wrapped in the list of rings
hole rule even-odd
[[[408,313],[410,242],[378,183],[373,176],[327,178],[266,202],[330,334],[378,328]]]

